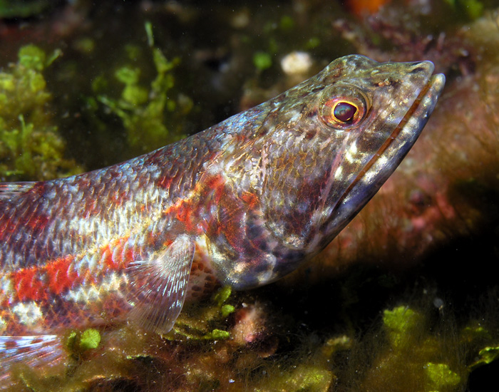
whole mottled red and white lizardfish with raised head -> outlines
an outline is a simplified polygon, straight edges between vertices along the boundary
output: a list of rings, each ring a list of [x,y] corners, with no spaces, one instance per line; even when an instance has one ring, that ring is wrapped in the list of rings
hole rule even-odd
[[[292,272],[416,142],[445,83],[432,73],[346,56],[152,153],[0,184],[0,380],[16,361],[63,357],[68,329],[164,334],[215,282],[249,289]]]

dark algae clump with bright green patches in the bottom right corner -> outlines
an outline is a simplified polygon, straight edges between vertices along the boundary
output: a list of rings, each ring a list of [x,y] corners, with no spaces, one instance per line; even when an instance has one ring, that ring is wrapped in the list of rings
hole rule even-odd
[[[373,349],[363,347],[373,358],[356,385],[366,391],[461,391],[470,371],[496,359],[499,351],[481,326],[458,331],[451,321],[443,324],[435,329],[428,314],[408,306],[384,310],[385,339],[378,332],[381,343],[373,340]],[[466,358],[480,359],[467,363]]]

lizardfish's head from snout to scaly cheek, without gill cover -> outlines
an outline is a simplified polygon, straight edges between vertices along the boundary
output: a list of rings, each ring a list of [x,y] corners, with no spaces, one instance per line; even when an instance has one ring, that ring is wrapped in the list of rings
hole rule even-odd
[[[443,89],[433,68],[346,56],[275,98],[261,127],[264,222],[289,254],[275,275],[329,244],[401,163]]]

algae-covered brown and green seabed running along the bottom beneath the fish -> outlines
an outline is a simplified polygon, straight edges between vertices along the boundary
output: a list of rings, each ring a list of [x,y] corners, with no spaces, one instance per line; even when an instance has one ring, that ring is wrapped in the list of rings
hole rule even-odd
[[[337,383],[344,391],[457,392],[473,368],[498,357],[492,334],[477,322],[459,329],[443,321],[438,329],[441,322],[431,312],[409,306],[385,309],[380,328],[364,339],[309,334],[282,355],[277,347],[285,347],[290,336],[277,338],[278,331],[269,329],[262,341],[247,344],[230,336],[234,326],[222,308],[234,301],[231,292],[222,287],[209,301],[186,309],[166,336],[132,326],[73,331],[64,339],[69,363],[43,371],[19,366],[24,389],[16,391],[94,391],[103,381],[132,388],[140,379],[148,385],[140,391],[326,392]]]

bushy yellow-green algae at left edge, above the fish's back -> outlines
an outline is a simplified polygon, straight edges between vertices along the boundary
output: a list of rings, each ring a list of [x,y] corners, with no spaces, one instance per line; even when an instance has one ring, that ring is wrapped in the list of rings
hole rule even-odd
[[[0,180],[46,180],[81,172],[66,160],[64,141],[50,113],[43,70],[59,56],[34,45],[0,72]]]

